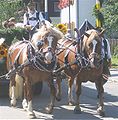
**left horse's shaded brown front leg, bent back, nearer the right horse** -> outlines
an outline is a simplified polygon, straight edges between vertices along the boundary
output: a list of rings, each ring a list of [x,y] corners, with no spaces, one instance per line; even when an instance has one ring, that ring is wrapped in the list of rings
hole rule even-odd
[[[49,87],[50,87],[50,95],[51,95],[51,102],[50,104],[45,108],[46,113],[50,114],[53,111],[54,107],[54,102],[55,102],[55,94],[56,94],[56,89],[54,86],[53,78],[49,81]]]

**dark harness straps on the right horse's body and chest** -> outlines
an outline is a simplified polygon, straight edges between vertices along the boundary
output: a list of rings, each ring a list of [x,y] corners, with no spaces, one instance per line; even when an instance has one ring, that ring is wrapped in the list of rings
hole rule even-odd
[[[90,35],[87,34],[87,33],[85,33],[84,35],[86,35],[87,37],[90,36]],[[88,35],[89,35],[89,36],[88,36]],[[82,37],[83,37],[83,35],[82,35]],[[64,64],[64,66],[62,66],[61,68],[55,70],[55,71],[54,71],[55,73],[58,72],[58,71],[61,71],[61,70],[63,70],[63,69],[66,69],[66,68],[69,69],[69,70],[71,70],[71,66],[74,65],[74,64],[78,65],[78,67],[79,67],[79,69],[80,69],[79,71],[81,71],[83,68],[84,68],[84,69],[90,69],[90,68],[91,68],[91,65],[90,65],[91,61],[89,60],[89,58],[87,58],[87,57],[85,56],[85,54],[83,53],[84,51],[79,52],[78,50],[72,51],[72,50],[70,49],[71,45],[73,45],[73,42],[74,42],[74,41],[72,41],[71,44],[68,45],[68,46],[65,47],[65,48],[64,48],[64,44],[61,44],[61,45],[59,44],[60,46],[62,46],[62,48],[60,48],[60,50],[59,50],[59,52],[58,52],[57,55],[61,54],[61,52],[63,52],[65,49],[67,49],[67,50],[66,50],[65,56],[64,56],[64,58],[65,58],[65,61],[64,61],[65,64]],[[63,43],[63,42],[61,42],[61,43]],[[79,46],[79,44],[81,44],[81,43],[75,42],[74,47],[77,48],[77,47]],[[81,49],[81,48],[80,48],[80,49]],[[74,52],[74,53],[75,53],[75,60],[73,60],[72,62],[69,62],[69,61],[68,61],[69,52]],[[93,55],[93,54],[91,54],[91,55]],[[97,55],[97,54],[95,54],[95,55]],[[101,55],[100,55],[100,56],[101,56]],[[99,68],[102,63],[103,63],[103,58],[100,58],[100,59],[98,60],[97,68]]]

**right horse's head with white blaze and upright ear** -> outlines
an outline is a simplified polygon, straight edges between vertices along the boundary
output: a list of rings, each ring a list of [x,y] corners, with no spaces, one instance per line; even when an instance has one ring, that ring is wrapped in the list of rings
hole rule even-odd
[[[102,60],[102,39],[101,36],[104,31],[99,33],[98,31],[91,29],[86,31],[83,38],[83,52],[85,57],[89,60],[90,66],[95,68]]]

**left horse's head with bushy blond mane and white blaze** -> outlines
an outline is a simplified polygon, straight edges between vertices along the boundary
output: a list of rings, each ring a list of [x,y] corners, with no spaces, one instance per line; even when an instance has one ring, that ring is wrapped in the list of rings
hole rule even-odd
[[[32,44],[44,55],[44,60],[50,64],[55,58],[57,41],[63,37],[63,34],[56,28],[43,24],[38,32],[32,37]]]

